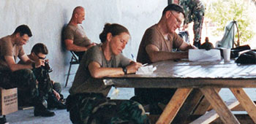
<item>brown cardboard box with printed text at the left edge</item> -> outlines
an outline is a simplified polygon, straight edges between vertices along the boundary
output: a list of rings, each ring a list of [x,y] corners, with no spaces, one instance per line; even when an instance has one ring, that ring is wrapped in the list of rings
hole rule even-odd
[[[7,115],[18,111],[18,93],[17,88],[3,89],[0,88],[1,95],[1,115]]]

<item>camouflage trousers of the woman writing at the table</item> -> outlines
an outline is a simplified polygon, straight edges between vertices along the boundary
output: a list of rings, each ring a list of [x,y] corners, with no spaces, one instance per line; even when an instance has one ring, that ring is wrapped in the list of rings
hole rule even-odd
[[[149,123],[143,106],[135,101],[110,100],[100,93],[69,95],[67,111],[72,123]]]

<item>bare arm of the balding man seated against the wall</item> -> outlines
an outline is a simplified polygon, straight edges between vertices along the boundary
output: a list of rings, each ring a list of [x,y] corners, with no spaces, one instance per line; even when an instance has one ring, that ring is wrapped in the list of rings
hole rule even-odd
[[[73,44],[72,39],[65,39],[65,45],[67,50],[75,51],[75,52],[82,52],[88,50],[90,47],[92,47],[91,44],[89,44],[87,47],[80,47],[78,45]]]

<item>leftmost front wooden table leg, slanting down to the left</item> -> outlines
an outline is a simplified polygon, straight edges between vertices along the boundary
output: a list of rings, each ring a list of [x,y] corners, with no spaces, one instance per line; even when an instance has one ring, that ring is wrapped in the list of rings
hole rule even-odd
[[[157,124],[171,123],[191,91],[192,88],[178,88],[167,106],[165,106],[165,110],[157,120]]]

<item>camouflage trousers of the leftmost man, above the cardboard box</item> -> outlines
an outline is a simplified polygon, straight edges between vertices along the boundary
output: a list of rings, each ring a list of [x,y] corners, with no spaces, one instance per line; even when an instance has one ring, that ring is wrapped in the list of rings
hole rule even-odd
[[[31,69],[0,71],[0,86],[5,89],[18,88],[19,104],[38,96],[37,81]]]

